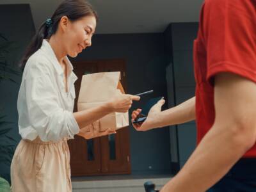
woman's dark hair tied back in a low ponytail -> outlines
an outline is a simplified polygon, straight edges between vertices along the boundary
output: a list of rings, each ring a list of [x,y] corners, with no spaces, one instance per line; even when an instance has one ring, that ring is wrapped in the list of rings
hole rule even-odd
[[[54,35],[58,29],[58,24],[61,17],[67,16],[69,20],[75,21],[81,19],[81,17],[93,15],[98,20],[98,15],[93,10],[92,5],[85,0],[65,0],[56,9],[51,17],[52,25],[47,27],[45,22],[40,26],[36,35],[33,37],[31,43],[22,58],[20,67],[24,70],[26,62],[29,57],[34,54],[42,46],[42,42],[45,38],[49,39]]]

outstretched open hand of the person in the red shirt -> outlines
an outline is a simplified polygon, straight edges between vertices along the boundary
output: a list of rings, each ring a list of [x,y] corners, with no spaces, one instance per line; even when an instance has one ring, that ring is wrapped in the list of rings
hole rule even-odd
[[[161,109],[164,103],[165,103],[164,99],[159,100],[148,112],[148,116],[145,122],[138,123],[138,124],[132,123],[133,127],[137,131],[148,131],[150,129],[156,128],[157,121],[158,121],[157,114],[161,112]],[[132,112],[132,122],[134,122],[134,120],[140,116],[140,113],[141,113],[141,109],[137,109],[136,111]]]

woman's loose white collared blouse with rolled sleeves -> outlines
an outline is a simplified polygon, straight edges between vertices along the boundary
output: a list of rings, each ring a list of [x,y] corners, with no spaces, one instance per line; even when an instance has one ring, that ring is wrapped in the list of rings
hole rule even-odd
[[[23,139],[58,141],[74,138],[79,126],[73,115],[77,76],[72,64],[67,63],[68,92],[65,90],[64,72],[51,45],[43,41],[27,61],[18,96],[19,133]]]

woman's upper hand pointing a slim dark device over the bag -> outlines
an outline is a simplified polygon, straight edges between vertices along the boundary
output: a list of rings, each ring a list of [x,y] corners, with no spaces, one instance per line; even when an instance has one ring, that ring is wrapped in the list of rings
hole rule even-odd
[[[140,100],[139,96],[120,94],[109,101],[110,108],[114,112],[125,113],[132,106],[132,100]]]

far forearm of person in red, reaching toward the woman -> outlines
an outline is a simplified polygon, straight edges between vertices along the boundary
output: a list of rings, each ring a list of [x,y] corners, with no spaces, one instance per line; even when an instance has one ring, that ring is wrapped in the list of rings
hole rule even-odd
[[[183,124],[195,120],[195,97],[192,97],[179,106],[161,111],[156,114],[153,122],[154,127]]]

